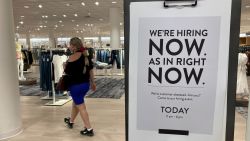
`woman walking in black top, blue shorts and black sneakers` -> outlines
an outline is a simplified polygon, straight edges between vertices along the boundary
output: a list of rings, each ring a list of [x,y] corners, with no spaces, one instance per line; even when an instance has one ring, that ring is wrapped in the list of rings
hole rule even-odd
[[[82,41],[74,37],[70,39],[70,51],[73,53],[69,56],[65,67],[65,74],[69,76],[69,91],[73,99],[71,116],[64,118],[68,128],[72,129],[78,113],[84,123],[84,130],[80,134],[93,136],[94,132],[90,125],[89,115],[84,103],[84,96],[89,88],[96,90],[94,82],[92,58],[88,56],[87,49],[83,47]]]

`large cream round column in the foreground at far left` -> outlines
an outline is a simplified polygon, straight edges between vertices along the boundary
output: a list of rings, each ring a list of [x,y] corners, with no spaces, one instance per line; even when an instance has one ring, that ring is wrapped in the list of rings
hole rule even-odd
[[[0,140],[22,131],[11,0],[0,0]]]

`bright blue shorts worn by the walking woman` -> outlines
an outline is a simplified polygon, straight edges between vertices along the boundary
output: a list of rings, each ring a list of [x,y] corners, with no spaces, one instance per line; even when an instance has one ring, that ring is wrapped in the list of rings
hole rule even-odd
[[[70,95],[76,105],[84,103],[84,97],[89,91],[89,83],[72,85],[69,87]]]

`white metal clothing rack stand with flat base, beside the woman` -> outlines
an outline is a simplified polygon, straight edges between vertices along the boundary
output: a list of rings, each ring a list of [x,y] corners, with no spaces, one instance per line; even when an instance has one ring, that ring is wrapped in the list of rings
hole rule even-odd
[[[50,58],[53,57],[53,55],[55,54],[64,54],[66,55],[66,52],[64,49],[47,49],[47,50],[42,50],[42,52],[49,52],[50,53]],[[57,52],[57,53],[54,53]],[[53,76],[53,63],[52,61],[50,62],[50,66],[51,66],[51,76]],[[50,91],[48,91],[48,95],[43,97],[42,99],[46,99],[46,100],[52,100],[48,103],[45,104],[45,106],[62,106],[64,104],[66,104],[67,102],[71,101],[71,97],[67,96],[60,98],[60,97],[56,97],[56,92],[55,92],[55,81],[53,79],[53,77],[51,77],[51,84],[52,84],[52,89],[51,89],[51,93],[52,93],[52,97],[50,96]]]

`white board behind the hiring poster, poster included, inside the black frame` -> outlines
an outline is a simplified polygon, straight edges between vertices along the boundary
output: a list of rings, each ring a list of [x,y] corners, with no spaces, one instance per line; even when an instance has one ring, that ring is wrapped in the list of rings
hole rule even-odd
[[[129,141],[224,140],[230,16],[231,0],[131,3]]]

